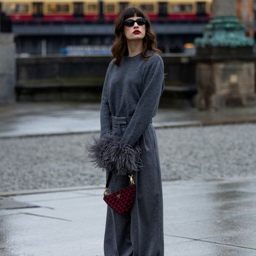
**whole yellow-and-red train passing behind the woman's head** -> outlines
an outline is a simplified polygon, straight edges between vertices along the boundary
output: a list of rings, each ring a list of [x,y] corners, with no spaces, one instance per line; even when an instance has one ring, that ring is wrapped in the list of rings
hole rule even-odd
[[[128,6],[146,10],[152,21],[208,20],[212,0],[0,0],[12,22],[112,22]]]

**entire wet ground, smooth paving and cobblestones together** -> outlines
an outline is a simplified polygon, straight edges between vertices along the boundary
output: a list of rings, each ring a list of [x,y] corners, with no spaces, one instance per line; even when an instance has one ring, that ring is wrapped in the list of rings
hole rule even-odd
[[[256,255],[255,114],[159,109],[165,256]],[[0,255],[103,256],[99,104],[2,105],[0,123]]]

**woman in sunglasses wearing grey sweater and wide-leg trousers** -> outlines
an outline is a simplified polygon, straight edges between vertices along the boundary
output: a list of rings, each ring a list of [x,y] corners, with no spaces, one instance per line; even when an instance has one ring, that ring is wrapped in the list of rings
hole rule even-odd
[[[101,99],[101,137],[89,146],[98,167],[112,171],[109,192],[136,184],[129,215],[107,207],[105,256],[163,255],[163,197],[152,117],[163,92],[163,60],[147,14],[128,7],[115,23],[113,59]]]

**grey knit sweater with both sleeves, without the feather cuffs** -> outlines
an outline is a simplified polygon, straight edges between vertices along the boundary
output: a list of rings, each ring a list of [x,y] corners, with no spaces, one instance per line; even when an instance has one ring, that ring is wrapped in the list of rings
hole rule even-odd
[[[119,67],[112,60],[102,91],[101,134],[111,130],[112,114],[116,117],[132,115],[122,141],[134,146],[157,114],[163,87],[163,60],[158,54],[148,60],[141,59],[141,54],[125,56]]]

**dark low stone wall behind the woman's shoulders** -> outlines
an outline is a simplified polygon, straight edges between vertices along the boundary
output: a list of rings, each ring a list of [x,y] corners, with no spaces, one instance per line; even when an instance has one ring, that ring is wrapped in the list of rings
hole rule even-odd
[[[167,86],[165,96],[173,97],[173,101],[181,94],[187,97],[195,88],[192,56],[168,54],[162,57]],[[110,60],[111,56],[19,57],[17,101],[100,101]]]

